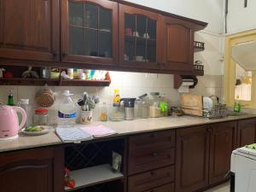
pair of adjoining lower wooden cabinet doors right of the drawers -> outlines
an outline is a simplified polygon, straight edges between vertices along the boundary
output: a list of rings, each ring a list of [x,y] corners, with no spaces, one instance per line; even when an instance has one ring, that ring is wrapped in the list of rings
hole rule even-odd
[[[177,130],[176,192],[223,182],[236,148],[236,121]]]

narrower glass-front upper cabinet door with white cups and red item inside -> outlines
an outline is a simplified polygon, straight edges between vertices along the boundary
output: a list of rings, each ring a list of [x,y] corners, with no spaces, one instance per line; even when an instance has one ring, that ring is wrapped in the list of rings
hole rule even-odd
[[[159,15],[119,5],[119,61],[125,67],[154,68],[159,63]]]

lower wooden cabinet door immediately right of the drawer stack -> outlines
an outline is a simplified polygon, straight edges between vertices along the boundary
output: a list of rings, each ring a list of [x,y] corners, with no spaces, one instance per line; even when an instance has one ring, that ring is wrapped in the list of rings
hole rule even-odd
[[[207,126],[177,130],[176,192],[202,189],[208,183]]]

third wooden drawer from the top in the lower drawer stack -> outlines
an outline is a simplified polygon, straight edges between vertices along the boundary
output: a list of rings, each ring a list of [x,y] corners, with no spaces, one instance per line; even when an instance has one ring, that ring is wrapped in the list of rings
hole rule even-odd
[[[141,192],[174,181],[174,166],[166,166],[151,172],[128,177],[129,192]]]

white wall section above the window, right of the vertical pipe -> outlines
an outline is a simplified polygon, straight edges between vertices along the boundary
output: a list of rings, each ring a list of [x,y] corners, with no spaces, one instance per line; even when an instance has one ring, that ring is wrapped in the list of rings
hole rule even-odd
[[[256,1],[247,0],[247,8],[243,7],[244,0],[230,0],[228,14],[228,33],[242,32],[256,28]]]

